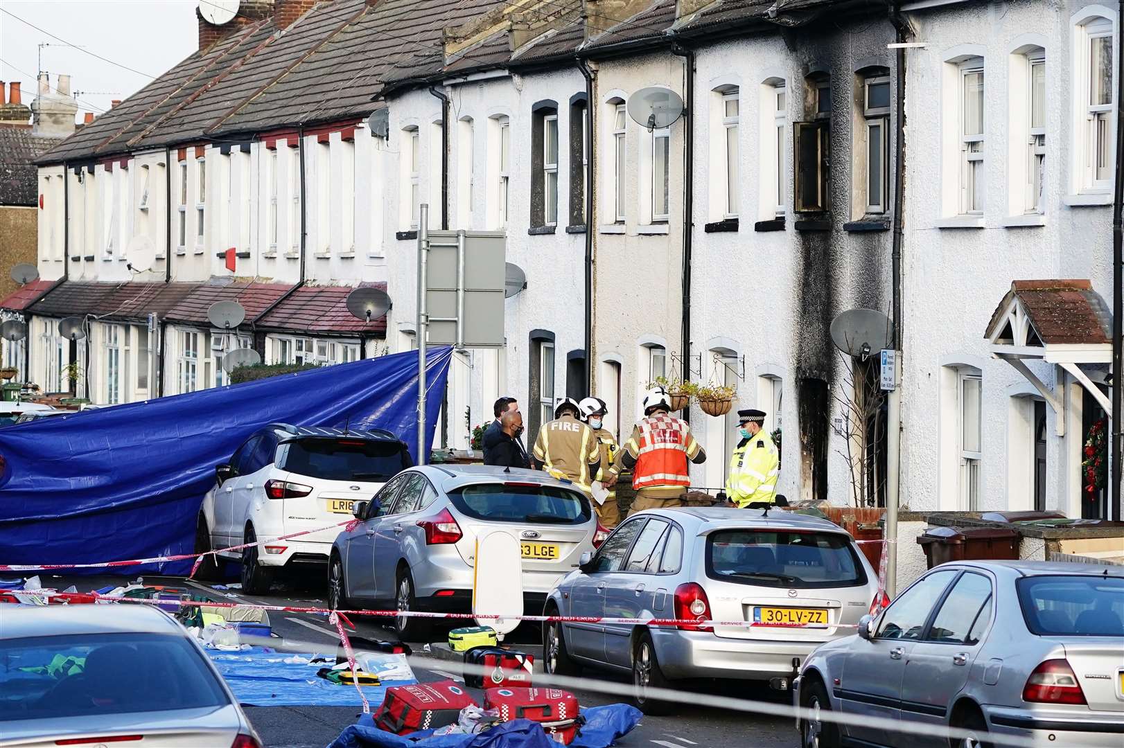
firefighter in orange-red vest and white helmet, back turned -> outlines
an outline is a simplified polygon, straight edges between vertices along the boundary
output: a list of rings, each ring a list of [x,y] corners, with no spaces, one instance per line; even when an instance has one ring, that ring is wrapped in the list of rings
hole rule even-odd
[[[706,453],[691,436],[687,421],[671,416],[668,391],[653,387],[642,401],[644,420],[620,450],[620,464],[633,471],[636,499],[628,514],[644,509],[682,507],[691,478],[687,460],[699,465]]]

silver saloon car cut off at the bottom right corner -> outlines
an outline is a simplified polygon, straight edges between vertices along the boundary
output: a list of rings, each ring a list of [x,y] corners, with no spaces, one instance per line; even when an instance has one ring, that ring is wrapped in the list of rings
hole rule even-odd
[[[819,647],[797,681],[815,714],[913,722],[798,722],[803,745],[1124,745],[1124,569],[1044,562],[943,564],[856,635]],[[945,727],[968,737],[950,738]]]

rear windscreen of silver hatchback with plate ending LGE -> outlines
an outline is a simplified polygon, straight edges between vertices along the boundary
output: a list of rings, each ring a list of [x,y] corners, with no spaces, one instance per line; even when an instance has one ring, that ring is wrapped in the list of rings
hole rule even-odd
[[[466,485],[448,498],[464,514],[495,522],[582,524],[590,518],[586,496],[551,485]]]

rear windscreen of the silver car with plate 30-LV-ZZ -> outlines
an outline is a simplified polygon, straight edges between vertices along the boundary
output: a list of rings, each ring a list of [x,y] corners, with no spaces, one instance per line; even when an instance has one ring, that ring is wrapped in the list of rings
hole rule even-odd
[[[707,536],[713,580],[765,587],[846,587],[867,583],[850,538],[835,532],[718,530]]]

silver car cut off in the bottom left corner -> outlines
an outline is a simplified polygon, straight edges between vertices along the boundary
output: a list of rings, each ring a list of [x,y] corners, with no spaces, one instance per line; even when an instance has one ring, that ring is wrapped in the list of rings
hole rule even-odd
[[[0,746],[261,748],[202,648],[148,605],[0,604]]]

